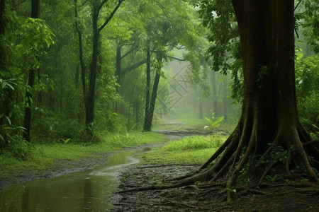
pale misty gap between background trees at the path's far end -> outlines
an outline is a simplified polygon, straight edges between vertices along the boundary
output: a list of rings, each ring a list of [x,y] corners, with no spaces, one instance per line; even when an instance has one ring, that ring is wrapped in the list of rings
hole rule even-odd
[[[165,77],[157,93],[155,110],[155,129],[161,125],[207,127],[205,117],[217,119],[224,117],[223,122],[232,125],[240,115],[240,104],[230,95],[230,79],[210,69],[197,73],[187,61],[177,59],[169,61],[163,67]]]

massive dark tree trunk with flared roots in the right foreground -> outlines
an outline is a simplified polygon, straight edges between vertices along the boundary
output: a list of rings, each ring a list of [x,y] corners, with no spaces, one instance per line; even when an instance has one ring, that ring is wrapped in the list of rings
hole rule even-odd
[[[313,167],[318,169],[319,151],[299,122],[296,108],[294,1],[232,2],[242,46],[242,114],[201,172],[181,184],[222,178],[230,189],[240,173],[258,184],[266,175],[291,178],[291,169],[300,166],[318,182]],[[202,170],[216,158],[211,168]]]

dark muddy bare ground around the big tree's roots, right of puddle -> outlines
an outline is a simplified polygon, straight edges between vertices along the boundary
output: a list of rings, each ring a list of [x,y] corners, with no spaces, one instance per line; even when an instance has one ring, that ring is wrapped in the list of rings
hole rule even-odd
[[[135,187],[172,184],[175,177],[194,172],[198,165],[133,165],[118,176],[112,211],[319,211],[319,185],[264,184],[258,189],[237,187],[231,201],[225,186],[196,184],[175,189],[123,192]]]

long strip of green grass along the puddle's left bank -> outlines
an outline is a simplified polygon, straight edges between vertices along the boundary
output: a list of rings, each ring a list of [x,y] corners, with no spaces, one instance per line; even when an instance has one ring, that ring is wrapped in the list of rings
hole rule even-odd
[[[79,160],[81,158],[99,158],[99,153],[111,153],[125,147],[146,143],[162,143],[166,138],[153,132],[131,132],[127,134],[101,134],[99,143],[54,143],[35,144],[23,148],[20,154],[28,154],[28,160],[18,160],[15,153],[6,151],[0,154],[0,178],[10,177],[18,172],[40,172],[49,170],[59,160]],[[18,152],[17,152],[18,153]],[[17,154],[16,153],[16,154]],[[19,158],[23,158],[20,155]]]

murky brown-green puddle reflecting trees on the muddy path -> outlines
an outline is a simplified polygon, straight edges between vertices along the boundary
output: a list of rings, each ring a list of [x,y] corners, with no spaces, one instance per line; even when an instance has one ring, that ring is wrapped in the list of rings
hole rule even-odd
[[[50,179],[36,179],[6,187],[0,192],[0,211],[109,211],[108,197],[116,187],[121,167],[138,163],[123,151],[105,165]]]

